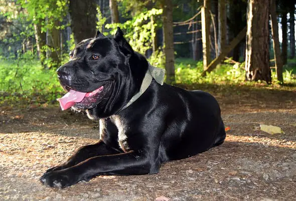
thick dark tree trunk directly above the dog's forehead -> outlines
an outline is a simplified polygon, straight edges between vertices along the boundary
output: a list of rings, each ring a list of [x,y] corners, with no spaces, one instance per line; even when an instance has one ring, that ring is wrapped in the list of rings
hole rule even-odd
[[[95,0],[70,0],[69,13],[75,44],[96,34],[97,5]]]

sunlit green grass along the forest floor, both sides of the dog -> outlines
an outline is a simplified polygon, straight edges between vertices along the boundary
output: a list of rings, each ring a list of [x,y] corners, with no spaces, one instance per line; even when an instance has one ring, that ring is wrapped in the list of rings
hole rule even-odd
[[[275,70],[272,69],[273,84],[265,82],[245,82],[243,64],[219,65],[206,77],[202,77],[202,62],[192,59],[177,58],[175,62],[176,83],[189,89],[206,89],[208,86],[238,85],[265,86],[283,88],[276,84]],[[296,58],[288,60],[284,66],[284,83],[286,86],[296,86]],[[57,103],[56,98],[64,94],[59,84],[55,70],[43,69],[35,59],[4,60],[0,58],[0,104],[30,104]]]

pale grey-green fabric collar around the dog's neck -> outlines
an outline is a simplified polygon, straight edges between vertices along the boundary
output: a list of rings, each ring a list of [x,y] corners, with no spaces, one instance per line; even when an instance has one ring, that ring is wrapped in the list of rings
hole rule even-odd
[[[166,72],[165,69],[158,68],[149,64],[146,74],[143,78],[140,90],[130,98],[129,102],[120,111],[124,110],[125,108],[130,106],[133,102],[135,102],[135,100],[138,99],[141,96],[141,94],[143,94],[145,90],[149,87],[153,78],[159,84],[163,85],[165,80],[165,72]]]

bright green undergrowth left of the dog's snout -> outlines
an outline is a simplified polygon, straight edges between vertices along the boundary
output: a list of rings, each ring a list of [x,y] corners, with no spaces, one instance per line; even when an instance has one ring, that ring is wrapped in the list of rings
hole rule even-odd
[[[31,58],[32,53],[28,52],[18,60],[0,59],[0,93],[6,100],[35,97],[38,101],[44,97],[40,101],[46,103],[54,101],[63,91],[55,70],[43,69],[38,60]]]

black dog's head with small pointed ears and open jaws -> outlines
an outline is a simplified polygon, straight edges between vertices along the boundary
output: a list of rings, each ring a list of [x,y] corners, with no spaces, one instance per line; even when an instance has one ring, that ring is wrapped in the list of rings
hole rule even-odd
[[[58,70],[62,87],[86,93],[74,110],[106,117],[120,110],[136,90],[147,70],[146,59],[134,52],[122,31],[81,41],[70,52],[70,60]]]

